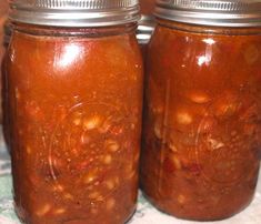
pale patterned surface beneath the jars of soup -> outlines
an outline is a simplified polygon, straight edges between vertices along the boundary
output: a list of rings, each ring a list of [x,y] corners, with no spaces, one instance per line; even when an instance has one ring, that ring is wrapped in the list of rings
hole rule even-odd
[[[157,211],[139,193],[138,210],[128,224],[197,224],[200,222],[182,221]],[[261,223],[261,173],[255,197],[251,205],[238,215],[217,224],[260,224]],[[0,132],[0,224],[20,224],[13,212],[12,180],[10,172],[10,157]]]

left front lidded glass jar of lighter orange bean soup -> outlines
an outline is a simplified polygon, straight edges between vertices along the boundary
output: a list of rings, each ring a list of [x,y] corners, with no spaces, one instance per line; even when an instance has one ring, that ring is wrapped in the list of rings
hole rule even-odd
[[[143,82],[139,4],[94,1],[11,4],[13,192],[26,223],[121,224],[135,210]]]

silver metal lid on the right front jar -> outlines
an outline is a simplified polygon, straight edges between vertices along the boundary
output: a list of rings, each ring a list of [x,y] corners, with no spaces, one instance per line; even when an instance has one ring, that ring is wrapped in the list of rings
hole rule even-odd
[[[260,27],[261,0],[157,0],[154,14],[192,24]]]

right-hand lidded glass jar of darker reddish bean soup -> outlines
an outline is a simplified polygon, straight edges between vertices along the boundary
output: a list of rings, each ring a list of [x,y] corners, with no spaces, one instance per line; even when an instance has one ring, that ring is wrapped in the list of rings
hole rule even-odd
[[[250,204],[260,166],[261,1],[160,0],[155,16],[142,190],[177,217],[229,217]]]

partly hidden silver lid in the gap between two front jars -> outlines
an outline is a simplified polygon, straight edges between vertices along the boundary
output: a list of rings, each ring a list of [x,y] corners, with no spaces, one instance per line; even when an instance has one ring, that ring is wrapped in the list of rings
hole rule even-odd
[[[150,16],[142,16],[138,22],[137,40],[140,44],[147,44],[154,31],[155,20]]]

